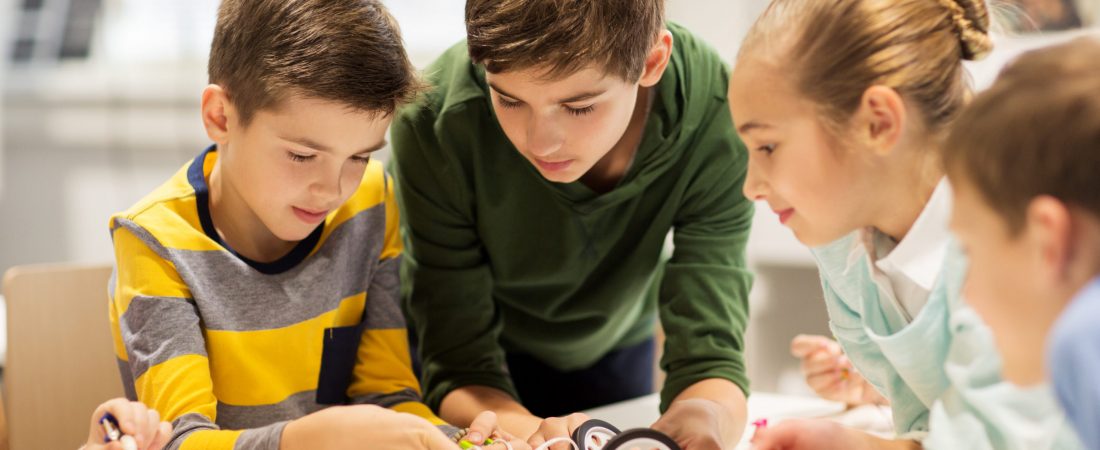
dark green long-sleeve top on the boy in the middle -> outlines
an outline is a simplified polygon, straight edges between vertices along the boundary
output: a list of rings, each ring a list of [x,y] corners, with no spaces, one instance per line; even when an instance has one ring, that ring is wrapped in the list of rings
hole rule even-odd
[[[748,392],[747,154],[726,106],[728,69],[669,30],[671,62],[635,162],[605,194],[548,182],[518,153],[464,43],[426,70],[431,92],[398,112],[405,307],[432,407],[466,385],[515,396],[505,351],[586,367],[652,336],[654,310],[667,336],[661,410],[704,378]]]

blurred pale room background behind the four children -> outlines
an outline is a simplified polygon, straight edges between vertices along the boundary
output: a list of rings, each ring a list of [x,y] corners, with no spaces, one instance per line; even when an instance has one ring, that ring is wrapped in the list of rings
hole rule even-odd
[[[111,262],[109,215],[208,145],[198,108],[218,3],[0,0],[0,273],[30,263]],[[464,36],[461,0],[385,3],[418,66]],[[669,0],[668,13],[732,61],[767,3]],[[1100,0],[1019,0],[1007,10],[1013,36],[998,39],[994,54],[970,67],[979,88],[1023,50],[1081,26],[1094,32]],[[758,274],[750,376],[755,389],[804,392],[787,348],[798,332],[827,332],[817,274],[767,207],[758,210],[749,245]]]

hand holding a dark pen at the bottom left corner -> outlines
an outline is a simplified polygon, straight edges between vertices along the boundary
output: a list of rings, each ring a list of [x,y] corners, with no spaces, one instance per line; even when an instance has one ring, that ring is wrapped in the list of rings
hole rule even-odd
[[[110,413],[119,420],[119,428],[127,437],[133,439],[138,450],[161,450],[172,437],[172,424],[161,421],[161,415],[150,409],[141,402],[130,402],[125,398],[114,398],[99,405],[91,414],[91,428],[88,429],[86,450],[124,450],[122,442],[103,442],[107,433],[99,424],[105,414]]]

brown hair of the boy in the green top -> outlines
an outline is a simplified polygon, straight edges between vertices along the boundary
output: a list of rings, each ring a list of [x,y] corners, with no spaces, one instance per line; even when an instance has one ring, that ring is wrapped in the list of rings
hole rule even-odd
[[[664,0],[466,1],[470,58],[493,74],[558,78],[596,65],[637,81],[663,29]]]

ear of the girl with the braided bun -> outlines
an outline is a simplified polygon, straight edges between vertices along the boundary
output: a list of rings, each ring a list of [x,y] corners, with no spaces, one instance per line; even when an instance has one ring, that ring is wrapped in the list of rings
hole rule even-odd
[[[888,155],[905,128],[905,102],[893,88],[871,86],[864,91],[855,116],[856,132],[879,155]]]

